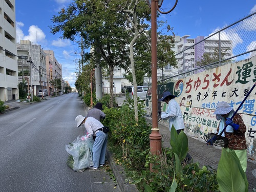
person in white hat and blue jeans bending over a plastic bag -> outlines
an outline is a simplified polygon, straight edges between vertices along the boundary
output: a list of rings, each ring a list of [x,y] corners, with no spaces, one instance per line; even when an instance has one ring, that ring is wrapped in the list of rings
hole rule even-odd
[[[108,141],[108,134],[100,130],[104,125],[93,117],[83,117],[78,115],[75,119],[77,127],[84,123],[84,127],[88,132],[88,138],[91,138],[93,134],[96,135],[96,139],[93,143],[93,166],[89,168],[97,169],[99,166],[103,166],[105,163],[106,155],[106,143]]]

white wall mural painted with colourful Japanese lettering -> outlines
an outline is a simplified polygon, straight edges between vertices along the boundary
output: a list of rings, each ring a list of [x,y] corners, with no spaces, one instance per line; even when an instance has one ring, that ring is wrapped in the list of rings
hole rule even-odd
[[[236,111],[255,82],[256,56],[158,86],[158,98],[161,98],[165,91],[178,95],[175,100],[180,103],[186,127],[185,133],[201,138],[205,134],[217,132],[219,121],[213,113],[218,102],[226,101]],[[247,126],[248,157],[253,159],[256,159],[255,98],[256,88],[238,111]],[[152,117],[151,104],[151,89],[149,89],[146,100],[148,117]],[[158,109],[165,111],[166,103],[159,102]],[[161,120],[159,123],[168,126],[167,121]]]

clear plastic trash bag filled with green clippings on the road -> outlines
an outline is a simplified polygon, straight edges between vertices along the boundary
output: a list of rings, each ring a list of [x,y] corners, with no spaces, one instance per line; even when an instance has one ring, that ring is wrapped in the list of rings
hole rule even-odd
[[[66,151],[73,157],[69,157],[67,164],[73,170],[88,168],[93,165],[92,147],[94,140],[92,138],[78,136],[72,143],[66,145]],[[72,165],[73,164],[73,165]]]

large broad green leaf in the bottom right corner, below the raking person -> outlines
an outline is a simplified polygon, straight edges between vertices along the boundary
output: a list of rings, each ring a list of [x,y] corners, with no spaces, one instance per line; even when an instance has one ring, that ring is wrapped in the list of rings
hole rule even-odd
[[[222,148],[217,169],[217,181],[220,191],[248,191],[248,181],[240,161],[236,153],[228,148]]]

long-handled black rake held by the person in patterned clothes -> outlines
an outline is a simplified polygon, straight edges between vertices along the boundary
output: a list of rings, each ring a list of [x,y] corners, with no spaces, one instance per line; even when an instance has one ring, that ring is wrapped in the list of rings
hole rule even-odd
[[[252,90],[254,89],[255,86],[256,86],[256,82],[253,84],[252,88],[250,89],[248,94],[245,96],[244,100],[241,102],[241,104],[239,105],[238,109],[234,112],[234,114],[232,115],[232,117],[230,119],[233,119],[234,115],[237,114],[238,110],[241,108],[241,106],[243,105],[244,101],[250,95],[250,93],[252,92]],[[209,134],[203,136],[202,139],[206,141],[207,145],[227,147],[228,139],[226,137],[222,137],[221,136],[224,133],[224,131],[226,130],[227,126],[228,125],[226,125],[224,127],[224,129],[222,130],[222,132],[219,135],[217,135],[215,133],[209,133]]]

